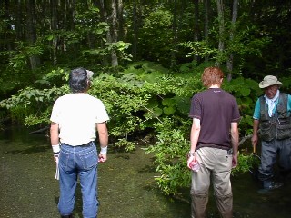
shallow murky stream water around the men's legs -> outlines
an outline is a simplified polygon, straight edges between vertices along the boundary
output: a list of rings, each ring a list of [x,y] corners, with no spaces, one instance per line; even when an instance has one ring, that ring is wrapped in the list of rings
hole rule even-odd
[[[24,128],[0,133],[0,217],[59,217],[58,183],[50,143],[43,134]],[[135,152],[110,151],[98,166],[99,218],[187,218],[189,190],[183,201],[159,192],[154,181],[153,159],[140,148]],[[289,180],[290,181],[290,180]],[[234,217],[286,218],[291,213],[291,187],[258,193],[258,183],[248,173],[232,178]],[[210,194],[207,217],[218,218]],[[80,187],[76,191],[75,218],[82,217]]]

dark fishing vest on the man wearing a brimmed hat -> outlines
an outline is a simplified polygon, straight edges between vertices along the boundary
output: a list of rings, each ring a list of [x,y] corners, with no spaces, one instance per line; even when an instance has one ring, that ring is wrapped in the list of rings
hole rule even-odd
[[[269,117],[264,96],[260,97],[260,130],[263,141],[286,139],[291,137],[290,114],[287,113],[288,94],[280,94],[276,104],[276,112]]]

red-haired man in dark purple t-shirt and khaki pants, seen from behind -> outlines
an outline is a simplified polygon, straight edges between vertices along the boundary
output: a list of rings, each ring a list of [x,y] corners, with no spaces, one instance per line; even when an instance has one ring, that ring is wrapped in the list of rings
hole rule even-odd
[[[207,90],[192,98],[189,116],[193,118],[191,147],[187,166],[192,171],[192,218],[206,217],[210,178],[214,186],[216,205],[224,218],[233,217],[231,169],[237,165],[238,121],[236,99],[222,90],[224,73],[218,67],[208,67],[202,74]]]

